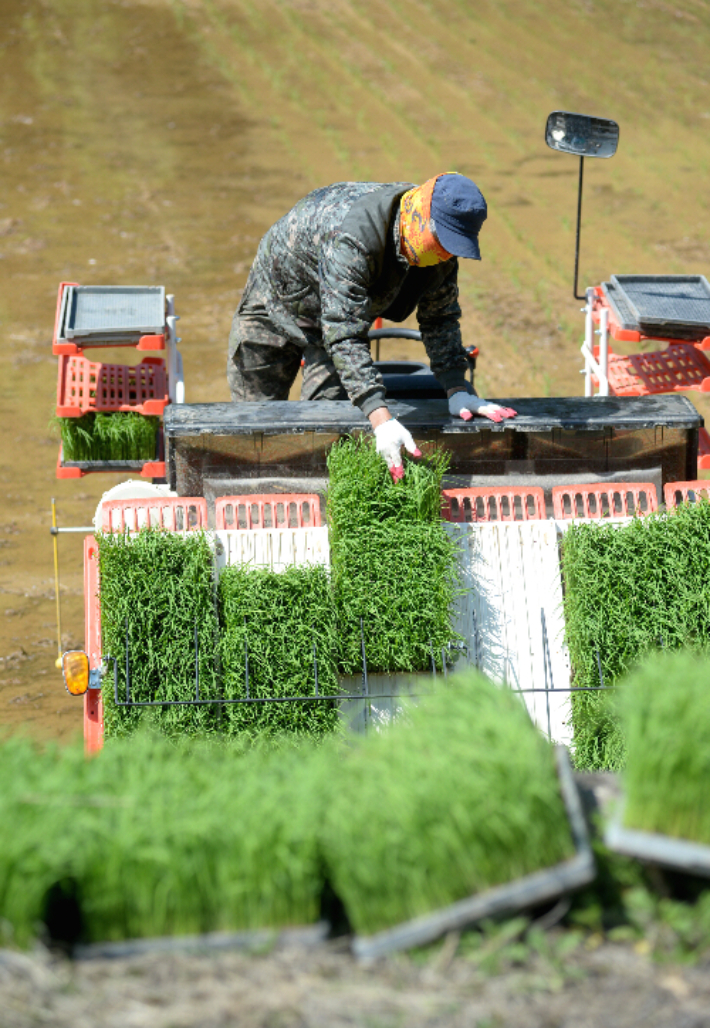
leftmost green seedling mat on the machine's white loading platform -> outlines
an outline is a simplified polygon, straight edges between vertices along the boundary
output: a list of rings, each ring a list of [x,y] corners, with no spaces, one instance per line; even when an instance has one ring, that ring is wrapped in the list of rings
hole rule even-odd
[[[125,698],[126,632],[134,700],[195,696],[195,626],[200,698],[220,696],[214,560],[202,534],[144,529],[98,537],[104,654],[117,660],[118,695]],[[118,707],[113,667],[104,678],[107,738],[153,721],[171,734],[215,731],[220,706]]]

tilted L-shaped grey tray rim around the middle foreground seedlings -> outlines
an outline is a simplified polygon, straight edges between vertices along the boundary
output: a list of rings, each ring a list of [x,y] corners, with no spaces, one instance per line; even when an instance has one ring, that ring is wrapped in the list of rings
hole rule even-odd
[[[574,856],[545,871],[536,871],[505,885],[496,885],[373,935],[356,935],[352,952],[360,960],[372,960],[398,950],[425,946],[449,931],[471,927],[486,918],[549,903],[588,885],[594,879],[594,855],[567,750],[563,746],[557,746],[555,755],[560,791],[574,841]]]

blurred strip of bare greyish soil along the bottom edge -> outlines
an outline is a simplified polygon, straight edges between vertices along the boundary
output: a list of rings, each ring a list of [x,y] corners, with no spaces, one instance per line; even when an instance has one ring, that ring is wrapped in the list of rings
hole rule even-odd
[[[551,944],[554,950],[554,940]],[[707,965],[592,939],[485,970],[452,956],[364,967],[338,947],[71,965],[0,951],[3,1028],[705,1028]],[[639,952],[640,951],[640,952]]]

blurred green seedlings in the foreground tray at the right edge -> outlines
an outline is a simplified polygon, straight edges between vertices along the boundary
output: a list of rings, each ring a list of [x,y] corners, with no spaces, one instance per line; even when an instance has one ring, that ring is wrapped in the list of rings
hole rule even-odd
[[[622,702],[628,828],[710,845],[710,661],[655,655]]]

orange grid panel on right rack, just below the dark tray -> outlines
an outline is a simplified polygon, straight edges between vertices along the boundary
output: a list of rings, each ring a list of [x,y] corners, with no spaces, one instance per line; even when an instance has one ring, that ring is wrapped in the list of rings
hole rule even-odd
[[[710,362],[693,343],[674,342],[658,353],[609,355],[608,378],[614,396],[705,393],[710,391]]]

